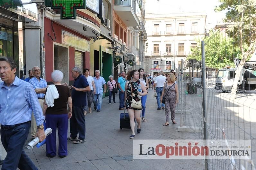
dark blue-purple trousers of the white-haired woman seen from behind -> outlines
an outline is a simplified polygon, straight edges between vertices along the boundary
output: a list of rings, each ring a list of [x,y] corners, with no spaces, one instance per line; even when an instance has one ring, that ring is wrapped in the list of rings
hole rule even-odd
[[[46,137],[46,155],[56,155],[56,130],[59,136],[59,156],[68,155],[68,114],[46,115],[46,129],[51,128],[52,133]]]

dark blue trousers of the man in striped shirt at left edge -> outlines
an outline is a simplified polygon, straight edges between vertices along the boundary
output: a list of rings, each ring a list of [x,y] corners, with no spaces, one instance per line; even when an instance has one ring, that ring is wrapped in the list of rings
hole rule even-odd
[[[30,122],[23,123],[16,127],[3,128],[1,125],[1,140],[7,150],[2,169],[29,169],[35,170],[37,167],[26,155],[23,146],[27,140],[30,129]]]

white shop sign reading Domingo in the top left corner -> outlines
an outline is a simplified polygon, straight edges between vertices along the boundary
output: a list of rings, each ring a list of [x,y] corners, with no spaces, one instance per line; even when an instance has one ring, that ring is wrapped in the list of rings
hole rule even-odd
[[[22,3],[27,2],[26,0],[21,0]],[[17,6],[12,0],[1,0],[0,6],[24,16],[27,19],[25,21],[37,21],[37,5],[36,4],[24,4],[22,6]]]

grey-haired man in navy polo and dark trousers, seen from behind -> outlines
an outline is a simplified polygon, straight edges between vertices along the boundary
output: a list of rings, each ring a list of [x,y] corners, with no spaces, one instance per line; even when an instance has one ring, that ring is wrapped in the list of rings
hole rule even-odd
[[[70,117],[70,137],[68,141],[74,140],[73,143],[85,142],[85,116],[83,108],[87,105],[86,103],[86,92],[90,91],[90,86],[88,84],[85,76],[81,74],[81,69],[79,67],[73,67],[72,77],[75,79],[73,86],[69,86],[72,89],[72,117]],[[67,83],[65,83],[68,86]],[[77,134],[79,137],[77,139]]]

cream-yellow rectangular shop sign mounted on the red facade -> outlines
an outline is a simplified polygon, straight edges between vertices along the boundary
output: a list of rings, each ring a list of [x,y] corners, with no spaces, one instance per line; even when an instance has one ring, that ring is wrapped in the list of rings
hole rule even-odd
[[[86,39],[75,36],[67,31],[61,31],[61,43],[83,51],[90,51],[90,43]]]

